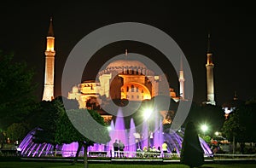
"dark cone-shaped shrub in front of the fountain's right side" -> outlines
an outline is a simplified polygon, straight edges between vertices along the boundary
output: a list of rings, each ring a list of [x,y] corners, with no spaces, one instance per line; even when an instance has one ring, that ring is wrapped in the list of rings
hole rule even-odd
[[[204,164],[204,151],[192,121],[189,121],[185,127],[180,162],[189,167],[198,167]]]

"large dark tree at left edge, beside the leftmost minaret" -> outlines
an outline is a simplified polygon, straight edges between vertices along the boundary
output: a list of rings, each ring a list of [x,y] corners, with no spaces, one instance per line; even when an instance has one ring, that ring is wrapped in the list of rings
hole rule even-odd
[[[13,61],[13,54],[0,50],[0,127],[5,130],[13,123],[24,121],[37,107],[34,96],[34,72],[26,62]]]

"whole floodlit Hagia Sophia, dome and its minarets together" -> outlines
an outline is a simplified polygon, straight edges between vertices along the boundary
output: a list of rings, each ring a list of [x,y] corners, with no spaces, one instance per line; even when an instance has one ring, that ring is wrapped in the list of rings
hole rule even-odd
[[[54,99],[54,73],[55,73],[55,36],[52,19],[49,22],[45,54],[45,78],[43,101]],[[215,105],[214,100],[214,78],[212,52],[210,51],[210,36],[208,37],[207,50],[207,101],[205,103]],[[125,55],[128,50],[125,49]],[[96,80],[86,80],[81,84],[74,84],[68,92],[68,99],[79,101],[79,108],[96,108],[102,103],[101,97],[105,99],[144,101],[163,93],[161,84],[165,74],[155,75],[152,70],[141,61],[131,59],[120,59],[112,61],[102,71],[98,72]],[[185,101],[183,65],[181,61],[179,71],[179,95],[169,87],[168,96],[173,101]]]

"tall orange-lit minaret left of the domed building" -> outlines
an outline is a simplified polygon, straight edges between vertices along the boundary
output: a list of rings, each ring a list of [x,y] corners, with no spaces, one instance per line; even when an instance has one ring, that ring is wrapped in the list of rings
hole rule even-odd
[[[54,74],[55,74],[55,38],[52,26],[52,18],[49,20],[49,31],[46,37],[45,72],[44,72],[44,96],[43,101],[54,99]]]

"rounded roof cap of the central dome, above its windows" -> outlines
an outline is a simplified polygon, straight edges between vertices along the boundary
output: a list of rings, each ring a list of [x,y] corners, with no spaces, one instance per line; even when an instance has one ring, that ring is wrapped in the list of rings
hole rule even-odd
[[[118,60],[111,62],[106,69],[117,68],[117,67],[137,67],[147,68],[142,62],[136,60]]]

